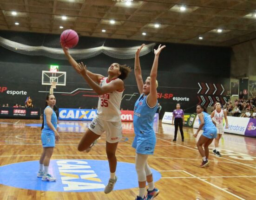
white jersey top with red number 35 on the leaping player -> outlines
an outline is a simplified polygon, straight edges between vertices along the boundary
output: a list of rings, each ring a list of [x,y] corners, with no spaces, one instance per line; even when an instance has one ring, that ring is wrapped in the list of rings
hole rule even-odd
[[[112,81],[112,80],[111,80]],[[110,81],[110,82],[111,82]],[[99,85],[102,87],[109,84],[107,77],[100,80]],[[98,118],[108,122],[121,121],[120,105],[123,91],[113,91],[111,93],[100,95],[98,98]]]

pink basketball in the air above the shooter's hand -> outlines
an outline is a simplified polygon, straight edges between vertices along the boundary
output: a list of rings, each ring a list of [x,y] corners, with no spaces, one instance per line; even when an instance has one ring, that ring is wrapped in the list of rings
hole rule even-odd
[[[72,29],[63,31],[60,35],[60,42],[67,48],[73,48],[79,40],[77,32]]]

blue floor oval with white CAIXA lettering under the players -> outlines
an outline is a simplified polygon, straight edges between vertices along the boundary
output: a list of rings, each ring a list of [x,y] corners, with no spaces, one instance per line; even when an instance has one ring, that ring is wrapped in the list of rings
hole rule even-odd
[[[49,173],[56,182],[41,181],[37,178],[38,161],[13,163],[0,167],[0,184],[24,189],[54,192],[102,192],[109,180],[108,161],[101,160],[51,160]],[[161,174],[151,169],[154,181]],[[17,176],[17,174],[26,176]],[[138,187],[135,164],[118,162],[118,181],[114,190]]]

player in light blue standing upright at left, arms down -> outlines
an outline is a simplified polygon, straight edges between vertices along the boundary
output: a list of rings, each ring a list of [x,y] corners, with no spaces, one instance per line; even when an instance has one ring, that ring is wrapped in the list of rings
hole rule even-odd
[[[39,160],[39,172],[37,177],[42,177],[42,181],[56,181],[56,179],[49,174],[48,168],[50,159],[53,155],[53,148],[56,143],[59,143],[59,133],[57,129],[57,116],[53,110],[53,106],[56,104],[54,95],[48,95],[46,97],[46,108],[44,110],[44,118],[42,123],[41,140],[43,145],[43,153]]]

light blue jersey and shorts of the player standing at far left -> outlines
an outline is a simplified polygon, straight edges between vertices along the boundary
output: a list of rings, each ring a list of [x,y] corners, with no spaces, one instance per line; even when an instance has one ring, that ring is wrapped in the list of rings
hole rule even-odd
[[[52,109],[50,106],[47,106],[46,108]],[[42,134],[41,134],[42,144],[43,144],[43,147],[55,147],[55,134],[54,134],[54,131],[50,129],[50,127],[48,127],[47,125],[45,110],[44,110],[44,129],[42,129]],[[57,129],[57,116],[54,110],[51,116],[51,123],[53,124],[54,128]]]

